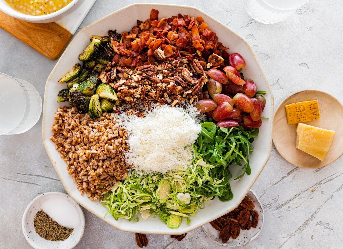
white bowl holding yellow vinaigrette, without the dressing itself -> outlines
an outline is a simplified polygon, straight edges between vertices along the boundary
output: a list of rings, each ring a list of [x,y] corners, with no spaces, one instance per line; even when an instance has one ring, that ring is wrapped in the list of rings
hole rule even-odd
[[[84,0],[72,0],[66,7],[47,15],[26,15],[12,9],[4,0],[0,0],[0,10],[17,19],[32,23],[50,23],[60,20],[78,8]]]

